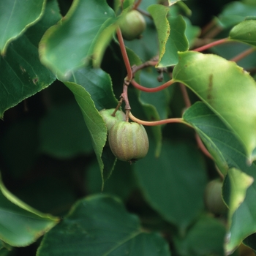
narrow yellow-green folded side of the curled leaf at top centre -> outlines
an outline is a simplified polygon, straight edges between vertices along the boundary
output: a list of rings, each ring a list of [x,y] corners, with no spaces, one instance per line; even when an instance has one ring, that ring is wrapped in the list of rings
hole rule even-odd
[[[148,12],[154,19],[155,26],[157,27],[160,63],[162,57],[165,54],[167,39],[170,35],[170,26],[166,18],[167,13],[169,12],[169,8],[160,4],[153,4],[150,7],[148,7]]]

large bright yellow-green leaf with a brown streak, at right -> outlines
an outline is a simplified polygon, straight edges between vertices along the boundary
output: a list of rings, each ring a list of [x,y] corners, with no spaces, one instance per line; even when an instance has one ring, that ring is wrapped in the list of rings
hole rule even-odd
[[[219,56],[192,51],[179,56],[173,79],[187,85],[222,118],[252,160],[256,147],[255,80],[234,62]]]

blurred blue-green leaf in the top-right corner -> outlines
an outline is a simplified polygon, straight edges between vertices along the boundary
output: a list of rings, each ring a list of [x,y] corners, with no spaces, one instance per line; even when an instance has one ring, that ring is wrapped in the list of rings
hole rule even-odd
[[[217,22],[224,29],[235,26],[248,16],[256,16],[256,5],[246,4],[240,1],[232,1],[225,6],[219,15]]]

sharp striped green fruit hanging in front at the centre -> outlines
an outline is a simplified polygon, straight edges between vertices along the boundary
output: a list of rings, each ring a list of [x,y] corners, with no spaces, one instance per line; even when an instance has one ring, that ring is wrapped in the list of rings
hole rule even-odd
[[[120,121],[114,124],[108,134],[108,143],[121,161],[134,162],[148,153],[148,135],[138,123]]]

